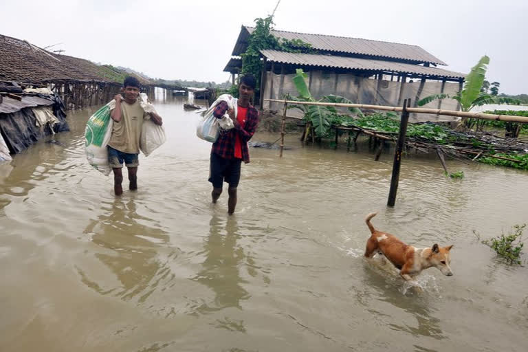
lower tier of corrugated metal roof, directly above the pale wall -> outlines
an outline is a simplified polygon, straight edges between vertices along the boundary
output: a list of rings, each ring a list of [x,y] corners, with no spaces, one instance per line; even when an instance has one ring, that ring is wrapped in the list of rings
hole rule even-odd
[[[297,54],[291,52],[279,52],[278,50],[261,50],[261,54],[263,54],[268,61],[274,61],[276,63],[289,63],[294,65],[360,69],[377,72],[399,72],[402,74],[418,74],[423,76],[446,78],[463,78],[465,76],[459,72],[452,72],[448,71],[447,69],[439,69],[437,67],[412,65],[410,63],[395,63],[394,61],[373,60],[370,58]]]

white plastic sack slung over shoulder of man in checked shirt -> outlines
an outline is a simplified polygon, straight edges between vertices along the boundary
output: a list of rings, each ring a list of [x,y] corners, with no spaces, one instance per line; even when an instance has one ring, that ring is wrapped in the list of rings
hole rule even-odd
[[[232,129],[234,127],[233,121],[227,112],[222,116],[222,118],[215,118],[213,115],[214,108],[217,106],[217,104],[219,104],[219,102],[222,101],[228,103],[229,109],[234,109],[234,115],[236,118],[236,98],[233,98],[229,94],[222,94],[217,100],[214,100],[214,102],[211,104],[211,107],[203,115],[202,120],[199,122],[196,128],[196,135],[202,140],[214,143],[218,139],[220,129],[227,131],[228,129]]]

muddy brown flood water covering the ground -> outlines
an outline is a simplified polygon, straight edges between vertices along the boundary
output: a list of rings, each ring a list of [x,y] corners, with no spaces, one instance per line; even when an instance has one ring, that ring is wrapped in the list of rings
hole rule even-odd
[[[282,159],[251,148],[229,217],[182,103],[156,102],[168,140],[140,156],[137,192],[86,162],[96,109],[0,165],[0,351],[526,351],[528,268],[476,234],[528,223],[528,173],[450,160],[453,180],[415,155],[391,209],[391,154],[290,135]],[[407,243],[454,244],[454,276],[422,272],[419,294],[367,263],[373,211]]]

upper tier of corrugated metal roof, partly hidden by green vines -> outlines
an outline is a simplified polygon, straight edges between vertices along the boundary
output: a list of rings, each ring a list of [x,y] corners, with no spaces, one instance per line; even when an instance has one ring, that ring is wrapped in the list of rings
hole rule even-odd
[[[248,37],[254,28],[242,26],[239,38],[236,40],[233,56],[239,56],[248,48]],[[369,39],[349,38],[345,36],[328,36],[324,34],[307,34],[273,30],[272,34],[282,39],[300,39],[311,44],[315,50],[375,56],[377,58],[395,58],[416,63],[433,63],[447,65],[439,58],[429,54],[417,45],[372,41]]]

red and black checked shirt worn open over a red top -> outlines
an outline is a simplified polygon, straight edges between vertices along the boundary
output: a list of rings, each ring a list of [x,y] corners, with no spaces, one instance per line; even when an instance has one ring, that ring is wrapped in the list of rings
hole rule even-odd
[[[219,102],[217,107],[214,108],[212,114],[215,118],[221,118],[226,111],[228,111],[228,103]],[[250,105],[248,107],[248,112],[245,114],[245,122],[241,123],[238,129],[234,128],[228,131],[220,130],[217,142],[212,144],[211,152],[225,159],[234,159],[236,137],[238,136],[240,140],[242,160],[247,164],[250,162],[248,141],[253,137],[258,124],[259,111]]]

